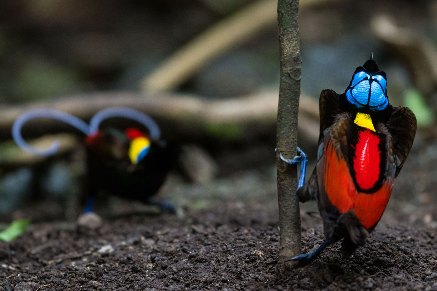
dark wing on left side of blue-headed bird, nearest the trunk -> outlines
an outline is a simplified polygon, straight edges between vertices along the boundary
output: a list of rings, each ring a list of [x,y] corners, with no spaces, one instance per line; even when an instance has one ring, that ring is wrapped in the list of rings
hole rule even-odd
[[[320,135],[319,144],[323,141],[323,132],[334,123],[336,114],[340,111],[340,95],[334,90],[326,89],[320,93],[319,116],[320,116]]]

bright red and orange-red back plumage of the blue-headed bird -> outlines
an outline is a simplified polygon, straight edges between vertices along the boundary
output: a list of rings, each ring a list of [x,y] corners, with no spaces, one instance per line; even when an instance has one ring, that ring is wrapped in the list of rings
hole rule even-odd
[[[394,172],[372,193],[362,192],[374,187],[380,177],[379,143],[380,140],[375,133],[370,130],[360,131],[355,145],[353,168],[356,173],[355,180],[363,190],[357,190],[347,161],[336,151],[335,141],[332,139],[325,144],[323,163],[318,171],[323,177],[324,191],[330,203],[340,213],[354,210],[366,229],[372,229],[381,218],[393,187]]]

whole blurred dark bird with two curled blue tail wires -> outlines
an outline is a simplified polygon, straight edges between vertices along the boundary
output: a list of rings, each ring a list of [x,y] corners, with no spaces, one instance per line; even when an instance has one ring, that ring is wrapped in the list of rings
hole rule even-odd
[[[145,126],[149,134],[138,128],[128,128],[125,131],[115,128],[99,129],[103,120],[112,117],[133,119]],[[36,149],[21,137],[21,127],[33,118],[64,121],[87,135],[85,146],[89,191],[85,212],[92,211],[95,196],[100,190],[159,206],[162,211],[175,211],[171,204],[151,200],[172,168],[176,151],[160,139],[158,125],[146,114],[130,108],[112,107],[99,111],[91,118],[90,125],[87,125],[79,118],[53,109],[25,112],[13,125],[14,140],[26,152],[50,156],[58,150],[59,142],[55,141],[45,149]]]

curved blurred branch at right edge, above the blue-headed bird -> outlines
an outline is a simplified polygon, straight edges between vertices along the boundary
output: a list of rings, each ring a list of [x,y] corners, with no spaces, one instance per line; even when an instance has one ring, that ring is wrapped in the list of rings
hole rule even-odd
[[[388,16],[379,15],[371,21],[374,34],[408,62],[415,83],[424,94],[437,87],[437,48],[419,31],[397,26]]]

